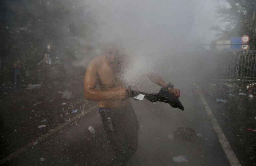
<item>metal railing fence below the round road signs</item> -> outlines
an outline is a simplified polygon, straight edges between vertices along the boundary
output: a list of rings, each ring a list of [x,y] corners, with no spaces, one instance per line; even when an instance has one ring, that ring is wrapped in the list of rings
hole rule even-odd
[[[256,53],[221,53],[212,60],[214,77],[256,79]]]

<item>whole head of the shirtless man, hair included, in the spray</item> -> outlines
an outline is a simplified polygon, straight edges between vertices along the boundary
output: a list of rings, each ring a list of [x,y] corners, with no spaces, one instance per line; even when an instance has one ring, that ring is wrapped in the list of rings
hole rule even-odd
[[[122,65],[123,59],[116,44],[107,44],[104,54],[110,67],[115,68]]]

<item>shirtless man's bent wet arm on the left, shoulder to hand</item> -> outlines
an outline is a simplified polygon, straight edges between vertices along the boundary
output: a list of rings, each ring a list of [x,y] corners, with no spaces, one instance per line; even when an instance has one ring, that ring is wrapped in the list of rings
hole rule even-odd
[[[127,88],[117,87],[113,90],[96,90],[98,75],[98,58],[93,59],[86,69],[84,76],[84,97],[87,100],[103,101],[112,98],[125,99],[127,96]]]

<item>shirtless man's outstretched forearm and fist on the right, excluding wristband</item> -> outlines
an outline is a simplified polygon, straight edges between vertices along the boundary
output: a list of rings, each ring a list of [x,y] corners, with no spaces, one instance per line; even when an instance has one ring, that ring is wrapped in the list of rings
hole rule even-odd
[[[158,74],[149,74],[149,79],[154,82],[157,85],[160,85],[162,87],[167,87],[167,83],[158,75]],[[170,93],[173,93],[175,97],[180,97],[180,90],[179,89],[173,89],[171,87],[168,87],[168,90]]]

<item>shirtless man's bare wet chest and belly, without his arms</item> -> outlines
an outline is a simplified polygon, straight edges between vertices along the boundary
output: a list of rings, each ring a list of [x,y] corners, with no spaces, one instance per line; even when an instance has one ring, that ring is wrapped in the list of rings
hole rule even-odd
[[[116,87],[124,86],[124,83],[121,80],[121,73],[118,69],[111,68],[105,56],[99,56],[98,60],[98,79],[97,85],[99,86],[99,90],[111,90]],[[120,100],[117,98],[108,99],[99,102],[100,108],[111,108],[111,109],[120,109],[125,108],[131,104],[130,99]]]

